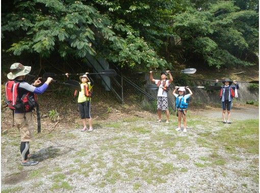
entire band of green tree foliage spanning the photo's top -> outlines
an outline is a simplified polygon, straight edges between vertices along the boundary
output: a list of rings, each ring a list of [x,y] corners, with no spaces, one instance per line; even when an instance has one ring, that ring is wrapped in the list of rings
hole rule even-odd
[[[2,42],[15,55],[84,58],[89,53],[131,68],[183,62],[221,68],[257,60],[256,0],[16,0],[8,5]]]

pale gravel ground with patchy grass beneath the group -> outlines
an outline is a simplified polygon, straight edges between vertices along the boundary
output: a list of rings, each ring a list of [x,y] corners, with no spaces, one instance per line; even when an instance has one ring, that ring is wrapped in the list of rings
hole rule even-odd
[[[157,123],[156,115],[140,112],[95,121],[93,132],[73,123],[36,134],[30,148],[40,163],[33,167],[20,166],[18,134],[8,131],[2,135],[2,192],[258,192],[258,153],[226,151],[211,141],[233,125],[221,123],[221,110],[189,114],[187,133],[174,131],[176,117]],[[258,119],[258,108],[234,108],[231,117]]]

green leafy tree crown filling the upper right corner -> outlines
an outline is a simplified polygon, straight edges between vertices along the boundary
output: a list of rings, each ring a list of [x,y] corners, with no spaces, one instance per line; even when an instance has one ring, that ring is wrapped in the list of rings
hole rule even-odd
[[[190,7],[174,17],[173,29],[186,58],[200,58],[216,68],[254,65],[249,57],[258,53],[258,13],[241,10],[233,1],[212,3],[207,9]]]

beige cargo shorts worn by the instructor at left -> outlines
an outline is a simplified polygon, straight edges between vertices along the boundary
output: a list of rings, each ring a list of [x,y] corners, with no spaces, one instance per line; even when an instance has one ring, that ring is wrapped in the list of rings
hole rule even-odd
[[[34,134],[34,121],[33,112],[25,113],[14,113],[14,121],[21,135],[21,142],[27,142],[33,140]]]

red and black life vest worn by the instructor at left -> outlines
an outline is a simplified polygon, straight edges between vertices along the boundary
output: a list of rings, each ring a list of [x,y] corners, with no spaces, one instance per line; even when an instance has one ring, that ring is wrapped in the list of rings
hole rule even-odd
[[[23,94],[19,99],[18,87],[20,82],[9,80],[6,83],[6,104],[12,110],[18,112],[29,112],[34,109],[37,103],[37,95],[32,92]]]

